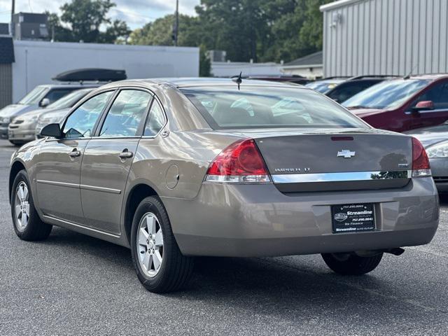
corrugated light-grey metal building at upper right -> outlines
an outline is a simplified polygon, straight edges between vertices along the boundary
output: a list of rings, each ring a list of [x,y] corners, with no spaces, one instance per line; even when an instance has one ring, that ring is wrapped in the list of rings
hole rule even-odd
[[[321,6],[325,76],[448,72],[448,0]]]

